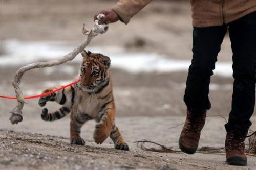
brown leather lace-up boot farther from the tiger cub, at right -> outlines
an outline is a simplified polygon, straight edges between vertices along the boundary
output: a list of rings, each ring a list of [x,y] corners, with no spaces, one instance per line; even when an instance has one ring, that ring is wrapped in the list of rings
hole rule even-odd
[[[239,130],[227,133],[225,141],[227,164],[239,166],[247,165],[247,157],[244,153],[246,134]]]

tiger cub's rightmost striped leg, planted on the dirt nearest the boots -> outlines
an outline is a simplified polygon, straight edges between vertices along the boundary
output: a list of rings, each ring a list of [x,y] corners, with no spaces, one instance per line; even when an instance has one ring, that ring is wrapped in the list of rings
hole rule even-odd
[[[119,129],[116,127],[115,124],[111,129],[110,138],[113,140],[116,149],[124,151],[130,150],[128,144],[124,141]]]

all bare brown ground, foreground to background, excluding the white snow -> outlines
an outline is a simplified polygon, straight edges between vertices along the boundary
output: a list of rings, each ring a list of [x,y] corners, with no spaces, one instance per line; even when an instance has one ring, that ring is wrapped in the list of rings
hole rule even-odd
[[[5,54],[3,42],[60,41],[77,45],[84,38],[82,23],[93,25],[93,15],[109,9],[116,1],[39,1],[1,0],[0,54]],[[120,46],[127,52],[164,54],[174,59],[191,58],[190,6],[188,1],[153,1],[136,15],[129,25],[114,23],[108,33],[96,37],[90,46]],[[228,35],[225,37],[219,61],[231,61]],[[111,56],[110,56],[111,57]],[[0,57],[1,62],[1,57]],[[23,63],[1,66],[0,94],[14,95],[11,81]],[[79,64],[67,63],[78,70]],[[248,156],[248,166],[225,164],[225,154],[156,153],[143,151],[134,141],[147,139],[178,149],[178,137],[184,122],[186,107],[183,95],[187,72],[132,74],[111,69],[117,107],[116,124],[131,151],[118,151],[108,138],[102,145],[93,141],[95,123],[82,128],[85,146],[69,144],[69,117],[57,122],[43,122],[37,100],[29,100],[23,109],[24,120],[18,125],[9,122],[14,100],[0,99],[0,169],[256,169],[256,157]],[[40,77],[38,77],[40,75]],[[71,80],[76,71],[63,74],[55,70],[35,69],[23,77],[25,92],[39,93],[47,81]],[[232,96],[231,77],[213,76],[210,86],[212,108],[209,116],[228,118]],[[216,86],[218,88],[216,88]],[[50,103],[50,110],[58,105]],[[255,109],[254,109],[255,112]],[[256,115],[251,118],[256,130]],[[202,131],[200,147],[223,147],[225,120],[208,117]],[[246,141],[248,143],[248,141]]]

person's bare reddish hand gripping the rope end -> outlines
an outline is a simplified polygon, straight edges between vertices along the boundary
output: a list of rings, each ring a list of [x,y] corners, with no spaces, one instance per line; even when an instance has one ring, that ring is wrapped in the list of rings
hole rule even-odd
[[[105,17],[99,21],[99,24],[106,22],[116,22],[120,19],[119,15],[113,10],[102,10],[94,15],[94,20],[97,19],[99,14],[104,14]]]

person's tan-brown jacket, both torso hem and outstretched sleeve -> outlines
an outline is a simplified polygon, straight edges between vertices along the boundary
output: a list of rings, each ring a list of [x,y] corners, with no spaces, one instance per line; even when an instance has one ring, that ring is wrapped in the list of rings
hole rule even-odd
[[[128,23],[151,0],[120,0],[113,6]],[[190,0],[194,27],[221,26],[256,11],[256,0]]]

